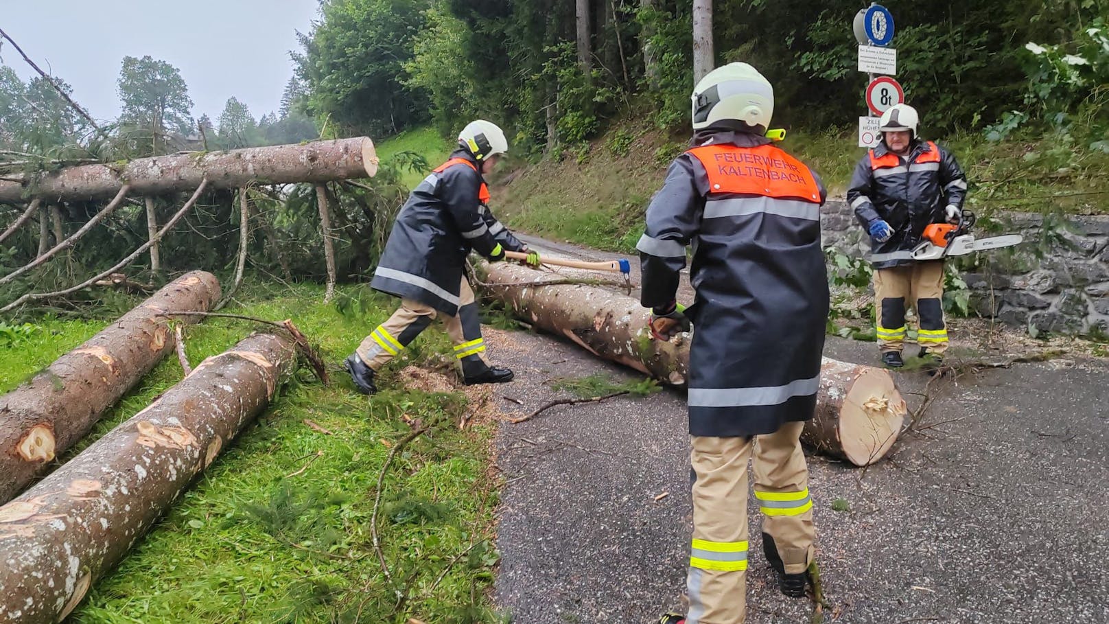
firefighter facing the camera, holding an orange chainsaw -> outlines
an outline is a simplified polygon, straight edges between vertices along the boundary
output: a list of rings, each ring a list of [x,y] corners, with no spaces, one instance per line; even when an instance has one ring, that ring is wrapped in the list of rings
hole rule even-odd
[[[950,152],[917,132],[916,109],[895,104],[882,114],[882,141],[855,167],[847,202],[871,236],[875,323],[882,362],[905,365],[906,309],[916,311],[920,358],[938,369],[947,350],[944,323],[944,261],[914,260],[914,249],[963,223],[966,175]],[[929,228],[930,227],[930,228]],[[937,235],[937,233],[939,233]]]

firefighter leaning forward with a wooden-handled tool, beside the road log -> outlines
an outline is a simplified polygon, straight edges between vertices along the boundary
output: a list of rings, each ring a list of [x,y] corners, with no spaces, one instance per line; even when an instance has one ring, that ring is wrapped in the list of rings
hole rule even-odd
[[[512,381],[512,371],[490,366],[485,358],[478,305],[462,271],[470,251],[490,262],[505,251],[528,253],[489,211],[484,175],[508,152],[508,140],[496,124],[477,120],[458,135],[458,149],[431,172],[397,214],[370,286],[400,298],[400,308],[378,325],[346,359],[355,388],[377,392],[374,376],[431,321],[442,321],[466,384]]]

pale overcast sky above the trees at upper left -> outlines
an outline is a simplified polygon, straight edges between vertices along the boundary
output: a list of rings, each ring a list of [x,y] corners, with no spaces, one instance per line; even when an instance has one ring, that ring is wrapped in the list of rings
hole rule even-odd
[[[216,120],[234,95],[257,119],[279,107],[296,31],[317,9],[318,0],[0,0],[0,28],[96,119],[120,112],[123,57],[146,54],[181,70],[193,117]],[[34,76],[7,41],[0,58],[23,80]]]

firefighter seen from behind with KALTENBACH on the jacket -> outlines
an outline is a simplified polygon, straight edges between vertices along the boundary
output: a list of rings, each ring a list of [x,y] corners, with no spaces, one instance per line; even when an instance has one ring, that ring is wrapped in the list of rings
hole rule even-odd
[[[767,138],[773,111],[774,90],[753,67],[709,72],[693,92],[694,147],[670,165],[637,245],[654,338],[696,326],[689,611],[668,613],[661,624],[744,621],[752,460],[763,553],[782,593],[804,596],[813,562],[813,503],[798,440],[816,405],[828,314],[825,191]],[[675,293],[688,245],[696,298],[683,309]]]

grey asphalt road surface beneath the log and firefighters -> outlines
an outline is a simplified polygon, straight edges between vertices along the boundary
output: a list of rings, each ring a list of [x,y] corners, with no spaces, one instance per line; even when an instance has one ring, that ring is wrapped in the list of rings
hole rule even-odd
[[[558,378],[633,378],[550,336],[490,333],[494,361],[518,373],[500,393],[523,405],[506,411],[563,396],[550,388]],[[873,363],[874,351],[830,339],[826,354]],[[910,410],[934,400],[886,461],[864,471],[810,456],[825,621],[1109,622],[1107,373],[1103,361],[1055,360],[930,388],[898,374]],[[515,624],[645,624],[682,607],[685,426],[684,397],[667,391],[500,427],[496,601]],[[849,511],[833,511],[837,499]],[[811,602],[777,593],[757,514],[750,522],[747,622],[810,622]]]

